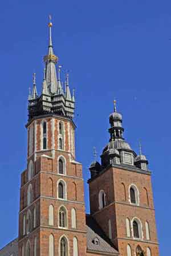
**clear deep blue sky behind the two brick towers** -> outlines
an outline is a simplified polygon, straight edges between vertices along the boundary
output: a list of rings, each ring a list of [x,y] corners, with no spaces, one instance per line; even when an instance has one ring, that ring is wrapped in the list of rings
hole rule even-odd
[[[123,113],[124,137],[153,171],[161,255],[170,243],[171,2],[168,0],[1,1],[0,247],[18,235],[20,175],[26,167],[27,96],[32,73],[43,78],[47,17],[55,54],[70,69],[76,89],[76,152],[83,163],[86,206],[88,166],[108,142],[108,117]]]

